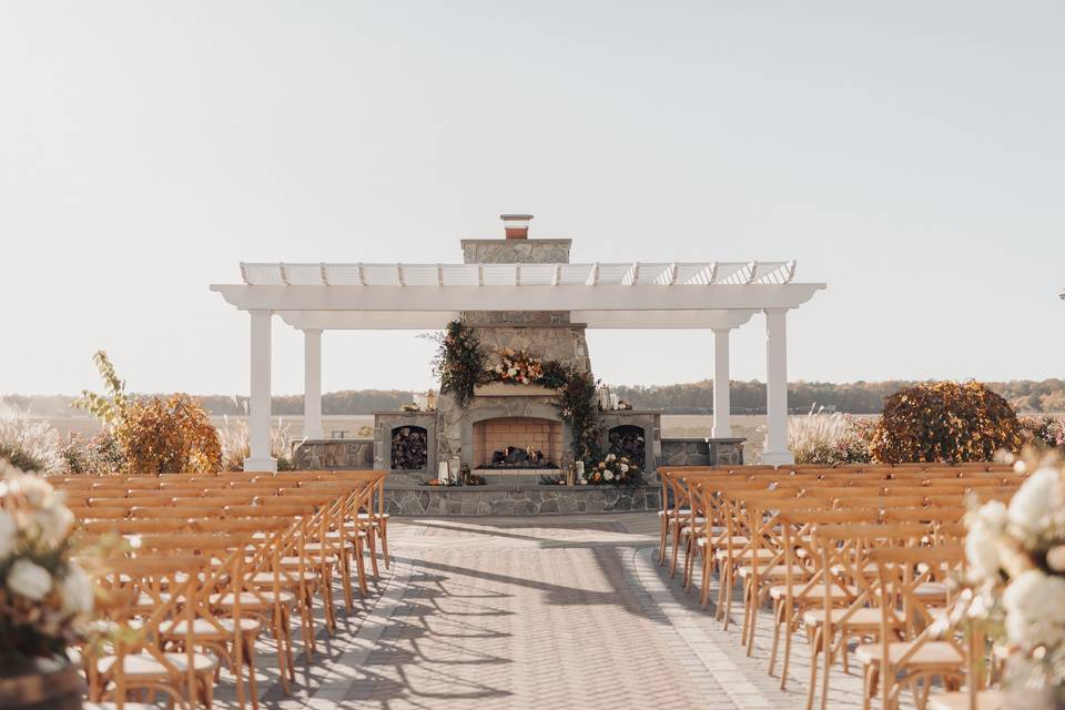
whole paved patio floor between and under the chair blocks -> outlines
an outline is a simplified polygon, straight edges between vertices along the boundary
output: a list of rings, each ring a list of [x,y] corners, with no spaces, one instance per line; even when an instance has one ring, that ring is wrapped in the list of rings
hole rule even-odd
[[[392,570],[318,653],[293,694],[258,652],[263,708],[802,708],[810,655],[798,636],[788,690],[765,672],[771,612],[748,658],[657,565],[656,514],[393,518]],[[337,595],[337,599],[339,599]],[[294,633],[298,639],[298,633]],[[833,670],[829,707],[860,708],[862,681]],[[216,704],[235,708],[232,679]]]

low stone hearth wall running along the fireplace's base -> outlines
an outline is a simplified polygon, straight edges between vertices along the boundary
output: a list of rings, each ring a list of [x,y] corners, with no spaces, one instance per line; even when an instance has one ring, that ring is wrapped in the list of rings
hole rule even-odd
[[[552,515],[660,507],[658,486],[385,486],[385,510],[390,515]]]

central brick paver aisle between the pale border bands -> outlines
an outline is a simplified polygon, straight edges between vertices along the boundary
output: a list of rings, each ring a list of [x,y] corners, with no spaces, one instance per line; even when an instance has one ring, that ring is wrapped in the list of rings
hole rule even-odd
[[[626,579],[608,519],[395,526],[403,598],[345,706],[712,707]]]

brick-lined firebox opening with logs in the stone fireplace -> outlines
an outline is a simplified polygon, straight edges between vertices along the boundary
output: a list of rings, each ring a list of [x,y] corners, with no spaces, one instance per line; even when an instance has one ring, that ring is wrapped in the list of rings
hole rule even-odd
[[[537,417],[499,417],[474,424],[474,468],[558,468],[562,426]]]

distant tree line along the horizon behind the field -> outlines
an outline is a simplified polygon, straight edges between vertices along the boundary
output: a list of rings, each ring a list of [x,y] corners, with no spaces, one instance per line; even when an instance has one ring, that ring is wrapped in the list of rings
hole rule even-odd
[[[825,382],[794,382],[788,387],[788,405],[792,412],[809,412],[811,407],[824,407],[851,414],[879,414],[884,397],[903,387],[917,384],[913,381],[889,379],[885,382],[854,382],[834,384]],[[1006,398],[1022,414],[1057,414],[1065,412],[1065,379],[1015,379],[985,383],[992,392]],[[657,385],[651,387],[610,386],[633,407],[662,409],[669,414],[708,414],[712,412],[713,382]],[[247,413],[247,397],[205,395],[200,396],[204,408],[215,415]],[[396,410],[409,404],[414,395],[409,389],[345,389],[322,395],[323,414],[373,414]],[[765,412],[765,385],[760,382],[733,382],[731,387],[734,414],[763,414]],[[0,403],[42,416],[73,414],[69,408],[73,397],[7,395]],[[277,416],[303,414],[303,396],[285,395],[273,398],[273,414]]]

